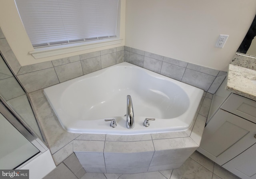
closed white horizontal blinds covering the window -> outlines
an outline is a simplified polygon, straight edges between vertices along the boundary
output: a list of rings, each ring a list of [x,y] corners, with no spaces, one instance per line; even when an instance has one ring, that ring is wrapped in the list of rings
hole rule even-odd
[[[116,37],[118,0],[15,0],[34,48]]]

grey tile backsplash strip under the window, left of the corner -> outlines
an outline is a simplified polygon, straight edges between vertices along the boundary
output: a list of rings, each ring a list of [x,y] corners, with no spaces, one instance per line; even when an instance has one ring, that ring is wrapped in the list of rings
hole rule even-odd
[[[124,62],[124,46],[22,66],[17,78],[30,93]]]

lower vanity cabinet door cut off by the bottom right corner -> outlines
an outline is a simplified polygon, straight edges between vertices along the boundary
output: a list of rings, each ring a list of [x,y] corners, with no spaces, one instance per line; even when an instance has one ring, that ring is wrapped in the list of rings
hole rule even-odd
[[[222,167],[242,179],[256,179],[256,144]]]

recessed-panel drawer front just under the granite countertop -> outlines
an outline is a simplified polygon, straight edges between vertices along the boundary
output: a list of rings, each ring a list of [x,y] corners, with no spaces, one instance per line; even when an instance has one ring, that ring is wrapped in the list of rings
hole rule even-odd
[[[256,123],[256,101],[232,93],[220,108]]]

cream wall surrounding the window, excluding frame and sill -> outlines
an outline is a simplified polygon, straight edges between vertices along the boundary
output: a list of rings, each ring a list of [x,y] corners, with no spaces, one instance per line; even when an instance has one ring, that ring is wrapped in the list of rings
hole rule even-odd
[[[18,10],[16,9],[16,4],[14,0],[0,0],[0,27],[8,41],[12,51],[14,52],[16,58],[20,62],[21,66],[36,64],[40,62],[46,62],[50,60],[55,60],[64,57],[75,56],[79,54],[85,54],[89,52],[95,52],[98,50],[104,50],[108,48],[114,48],[118,46],[124,46],[124,40],[121,44],[105,46],[102,48],[94,48],[90,50],[83,50],[79,52],[72,52],[67,54],[62,54],[58,56],[51,56],[46,58],[34,59],[34,57],[28,52],[34,50],[26,30],[20,20]],[[121,24],[120,24],[120,38],[124,39],[124,28],[125,28],[125,4],[126,0],[121,0]]]

